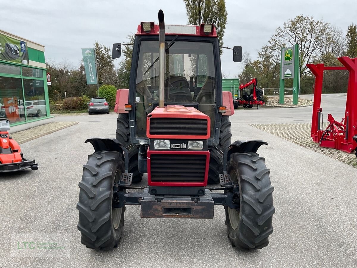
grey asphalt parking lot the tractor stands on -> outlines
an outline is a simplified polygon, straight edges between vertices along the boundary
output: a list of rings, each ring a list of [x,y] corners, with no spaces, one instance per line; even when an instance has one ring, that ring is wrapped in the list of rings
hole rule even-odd
[[[329,109],[340,118],[343,96],[339,102],[334,98],[324,96],[322,104],[334,103]],[[357,169],[250,126],[306,124],[311,110],[246,109],[231,117],[232,141],[269,144],[258,153],[266,158],[275,188],[274,232],[268,247],[255,252],[231,247],[223,207],[215,207],[214,219],[203,220],[142,219],[139,207],[127,207],[118,248],[96,252],[84,247],[76,203],[82,164],[93,152],[84,140],[114,138],[116,115],[57,116],[56,121],[79,124],[21,144],[39,170],[0,175],[0,267],[356,267]],[[69,258],[14,258],[10,242],[15,233],[68,234]]]

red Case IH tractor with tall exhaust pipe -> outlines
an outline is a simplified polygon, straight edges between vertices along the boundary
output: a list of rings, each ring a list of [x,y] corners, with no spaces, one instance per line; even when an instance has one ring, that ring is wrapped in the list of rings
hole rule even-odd
[[[207,219],[220,205],[233,246],[268,245],[274,188],[257,154],[267,143],[231,143],[233,101],[222,92],[219,49],[212,24],[165,26],[160,10],[159,25],[138,26],[129,89],[117,91],[116,139],[85,141],[95,151],[83,165],[77,203],[87,248],[117,247],[129,205],[140,205],[142,218]],[[114,44],[113,58],[120,53]],[[241,56],[235,46],[233,61]],[[147,186],[133,186],[144,173]]]

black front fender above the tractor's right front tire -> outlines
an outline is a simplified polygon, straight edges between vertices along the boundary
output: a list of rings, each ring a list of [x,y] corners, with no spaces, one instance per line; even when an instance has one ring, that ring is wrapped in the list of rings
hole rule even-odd
[[[230,159],[230,155],[234,153],[252,152],[256,153],[261,145],[268,145],[263,140],[236,140],[223,153],[223,171],[227,171],[227,161]]]

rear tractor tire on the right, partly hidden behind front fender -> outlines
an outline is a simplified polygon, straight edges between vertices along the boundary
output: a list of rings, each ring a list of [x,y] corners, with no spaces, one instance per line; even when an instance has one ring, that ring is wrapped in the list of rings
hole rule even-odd
[[[231,122],[229,116],[222,115],[220,140],[217,148],[223,153],[231,145]],[[208,169],[208,184],[216,184],[220,182],[219,174],[223,174],[223,165],[219,156],[215,151],[210,150],[210,166]]]

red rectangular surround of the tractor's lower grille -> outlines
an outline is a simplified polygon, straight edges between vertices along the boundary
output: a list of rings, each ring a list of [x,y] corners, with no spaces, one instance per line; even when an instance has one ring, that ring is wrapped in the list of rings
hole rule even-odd
[[[204,154],[206,155],[206,170],[205,170],[205,179],[203,182],[153,182],[151,181],[151,155],[152,154]],[[209,151],[150,151],[147,150],[147,184],[149,186],[195,186],[195,187],[204,187],[207,186],[208,180],[208,167],[210,165],[210,152]]]

